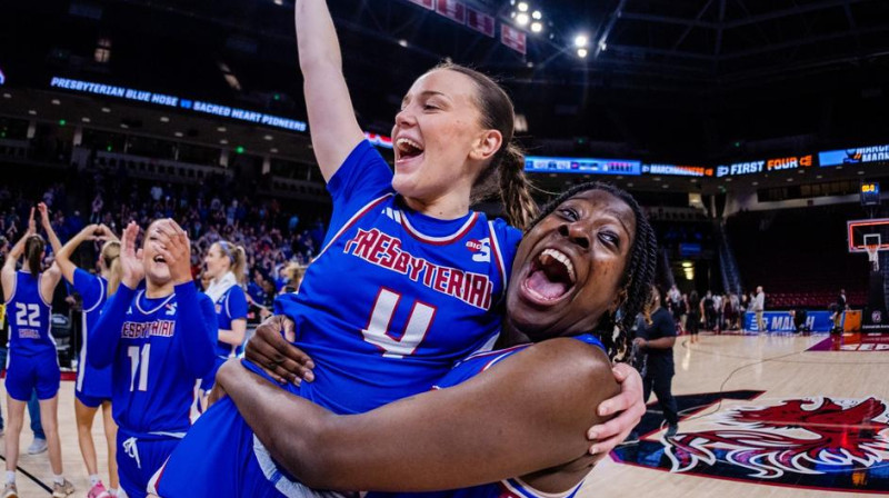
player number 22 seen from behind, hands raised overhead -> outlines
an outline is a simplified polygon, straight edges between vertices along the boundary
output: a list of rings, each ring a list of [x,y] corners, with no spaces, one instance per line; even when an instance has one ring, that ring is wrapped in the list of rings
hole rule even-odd
[[[47,207],[41,202],[39,208],[41,225],[51,233]],[[7,313],[10,318],[6,384],[9,424],[3,498],[18,496],[16,467],[19,459],[19,436],[24,419],[24,406],[34,389],[40,400],[40,419],[49,446],[49,461],[53,474],[52,496],[63,498],[74,491],[73,485],[62,476],[58,422],[61,371],[56,341],[50,335],[52,292],[61,279],[61,271],[53,265],[41,272],[46,247],[43,238],[37,235],[34,210],[31,208],[28,230],[9,251],[1,273],[3,295],[7,296]],[[22,253],[24,265],[21,270],[16,271]]]

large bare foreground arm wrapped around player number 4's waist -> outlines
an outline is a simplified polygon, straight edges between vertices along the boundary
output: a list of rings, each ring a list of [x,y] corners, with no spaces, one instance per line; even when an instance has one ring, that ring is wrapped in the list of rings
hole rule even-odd
[[[605,355],[573,339],[353,416],[334,416],[236,363],[217,380],[278,462],[307,486],[337,490],[450,489],[575,461],[587,454],[587,428],[600,421],[596,407],[618,391]]]

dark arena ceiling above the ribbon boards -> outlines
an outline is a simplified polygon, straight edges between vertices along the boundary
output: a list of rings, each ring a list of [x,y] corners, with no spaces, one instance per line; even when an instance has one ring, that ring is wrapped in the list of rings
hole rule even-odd
[[[292,0],[8,2],[8,86],[61,74],[304,118]],[[508,0],[468,3],[509,20]],[[885,0],[539,0],[527,54],[406,0],[330,0],[364,128],[450,58],[503,80],[538,155],[710,162],[885,142]],[[575,34],[591,53],[577,57]],[[98,40],[111,59],[93,59]],[[222,67],[240,89],[226,83]]]

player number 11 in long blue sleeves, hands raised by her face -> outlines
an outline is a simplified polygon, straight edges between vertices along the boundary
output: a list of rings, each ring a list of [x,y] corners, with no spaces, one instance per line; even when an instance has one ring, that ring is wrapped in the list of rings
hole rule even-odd
[[[186,232],[156,220],[137,252],[138,233],[134,222],[123,232],[121,286],[87,345],[94,368],[112,366],[120,485],[136,498],[191,426],[194,380],[213,367],[218,329],[192,281]]]

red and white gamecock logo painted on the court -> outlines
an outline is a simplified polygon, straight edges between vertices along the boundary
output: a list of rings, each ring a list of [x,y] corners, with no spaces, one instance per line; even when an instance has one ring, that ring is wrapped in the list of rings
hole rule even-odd
[[[666,440],[673,472],[730,464],[748,478],[786,480],[867,470],[889,461],[889,407],[877,398],[783,399],[733,408],[711,418],[709,430]],[[793,478],[796,480],[796,478]],[[799,485],[806,486],[806,479]]]

